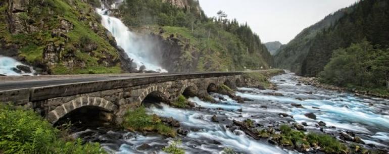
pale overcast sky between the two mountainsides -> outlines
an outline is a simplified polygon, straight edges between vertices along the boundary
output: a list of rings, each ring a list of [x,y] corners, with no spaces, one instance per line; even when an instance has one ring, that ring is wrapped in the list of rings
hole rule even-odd
[[[357,0],[199,0],[208,17],[219,10],[248,22],[262,42],[286,44],[304,28],[330,13],[354,4]]]

